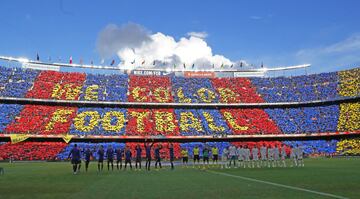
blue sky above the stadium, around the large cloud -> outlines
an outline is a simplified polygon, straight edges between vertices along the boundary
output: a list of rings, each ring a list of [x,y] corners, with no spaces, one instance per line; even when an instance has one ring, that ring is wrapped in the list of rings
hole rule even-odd
[[[205,32],[212,53],[268,66],[313,64],[311,72],[360,65],[360,1],[5,0],[0,55],[102,59],[99,33],[129,22],[176,41]],[[118,58],[114,54],[106,62]]]

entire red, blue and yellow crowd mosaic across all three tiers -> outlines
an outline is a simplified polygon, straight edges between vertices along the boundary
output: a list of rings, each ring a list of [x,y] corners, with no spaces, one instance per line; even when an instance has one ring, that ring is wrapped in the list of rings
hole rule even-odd
[[[0,67],[0,97],[114,101],[140,103],[264,103],[306,102],[359,96],[360,68],[347,71],[276,78],[186,78],[170,76],[100,75]],[[42,135],[198,136],[296,134],[360,130],[360,103],[300,108],[93,108],[0,104],[0,133]],[[347,150],[355,140],[284,142],[304,145],[306,153]],[[114,147],[124,147],[110,143]],[[219,148],[230,143],[216,144]],[[233,143],[241,145],[243,143]],[[253,146],[254,143],[248,143]],[[274,145],[276,142],[270,142]],[[81,144],[97,149],[100,144]],[[102,143],[105,147],[109,144]],[[128,144],[132,149],[135,143]],[[176,144],[192,150],[197,143]],[[203,144],[199,144],[203,147]],[[72,145],[26,142],[0,145],[0,158],[52,159],[55,149]],[[54,147],[51,155],[38,154]],[[164,147],[167,147],[164,144]],[[337,148],[336,148],[337,147]],[[33,151],[34,157],[27,154]],[[167,149],[164,149],[166,151]],[[29,152],[30,153],[30,152]],[[351,151],[349,154],[353,154]],[[56,158],[63,159],[63,155]],[[164,156],[166,154],[164,153]]]

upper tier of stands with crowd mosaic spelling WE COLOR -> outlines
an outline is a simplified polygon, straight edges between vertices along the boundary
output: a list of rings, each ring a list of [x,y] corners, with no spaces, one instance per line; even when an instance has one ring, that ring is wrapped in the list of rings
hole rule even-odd
[[[42,99],[257,103],[306,102],[360,95],[360,68],[276,78],[94,75],[0,67],[0,96]]]

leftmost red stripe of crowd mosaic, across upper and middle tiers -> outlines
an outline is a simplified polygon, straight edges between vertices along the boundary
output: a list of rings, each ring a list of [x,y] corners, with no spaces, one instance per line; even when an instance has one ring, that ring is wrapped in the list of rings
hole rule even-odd
[[[28,98],[78,100],[85,74],[42,71]],[[35,106],[27,104],[5,133],[64,134],[69,131],[76,107]]]

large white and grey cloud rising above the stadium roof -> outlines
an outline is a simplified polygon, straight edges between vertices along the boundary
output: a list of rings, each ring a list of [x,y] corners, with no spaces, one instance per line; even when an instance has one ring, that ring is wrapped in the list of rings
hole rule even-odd
[[[119,38],[120,37],[120,38]],[[206,32],[189,32],[187,36],[175,40],[174,37],[158,32],[150,33],[138,24],[123,26],[108,25],[98,37],[97,49],[100,55],[118,55],[122,68],[168,67],[174,64],[182,67],[195,64],[195,68],[219,68],[222,64],[226,67],[238,62],[231,61],[223,55],[214,54],[206,42]],[[135,64],[131,64],[135,60]],[[243,65],[248,65],[242,60]],[[164,64],[165,63],[165,64]]]

